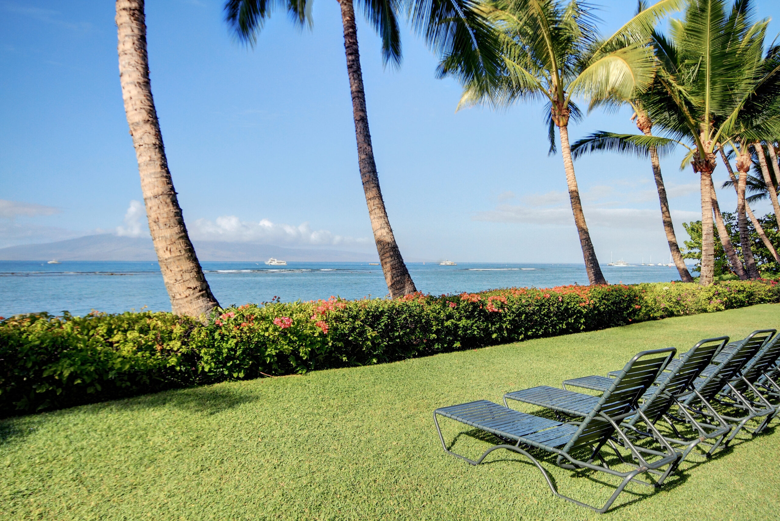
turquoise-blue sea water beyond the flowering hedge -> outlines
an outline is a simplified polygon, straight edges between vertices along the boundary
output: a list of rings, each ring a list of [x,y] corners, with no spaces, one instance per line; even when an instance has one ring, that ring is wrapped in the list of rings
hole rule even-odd
[[[417,289],[441,293],[477,292],[511,286],[539,288],[587,284],[583,264],[409,264]],[[366,263],[290,262],[272,267],[254,262],[204,262],[211,291],[222,306],[259,303],[278,296],[297,299],[346,299],[387,294],[379,266]],[[602,266],[611,283],[667,282],[679,279],[675,268],[660,266]],[[171,310],[156,262],[0,261],[0,316],[68,310],[111,313]]]

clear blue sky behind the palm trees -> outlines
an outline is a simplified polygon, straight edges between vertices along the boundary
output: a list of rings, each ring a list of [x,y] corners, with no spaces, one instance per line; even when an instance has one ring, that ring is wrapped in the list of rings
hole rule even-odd
[[[229,33],[222,3],[147,2],[152,90],[191,235],[371,251],[337,2],[315,2],[311,31],[275,13],[254,49]],[[633,12],[600,3],[605,33]],[[756,6],[780,19],[780,3]],[[0,0],[0,246],[146,232],[114,15],[113,2]],[[402,67],[383,69],[359,20],[374,153],[404,257],[582,262],[541,106],[456,112],[460,89],[435,79],[420,39],[405,30]],[[778,30],[773,21],[771,37]],[[629,117],[594,113],[569,133],[636,132]],[[700,200],[681,158],[662,168],[682,239]],[[668,257],[646,161],[605,154],[575,166],[600,261]],[[722,165],[714,177],[726,179]],[[730,190],[718,192],[725,211]]]

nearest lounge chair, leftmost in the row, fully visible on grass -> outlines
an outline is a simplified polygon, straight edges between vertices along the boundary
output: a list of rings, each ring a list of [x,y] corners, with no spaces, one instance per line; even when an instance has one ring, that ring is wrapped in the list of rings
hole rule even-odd
[[[630,481],[654,487],[661,486],[663,480],[668,475],[668,470],[665,473],[661,473],[659,469],[664,466],[672,468],[682,456],[679,452],[675,452],[671,445],[665,444],[663,441],[661,441],[661,444],[664,445],[663,452],[639,450],[619,427],[622,420],[637,413],[636,403],[640,396],[652,385],[655,377],[658,376],[658,373],[663,370],[675,353],[676,349],[672,347],[637,353],[636,356],[629,360],[629,363],[626,363],[626,366],[615,377],[610,388],[601,395],[601,398],[597,400],[590,412],[581,421],[563,423],[548,420],[547,418],[521,413],[488,400],[479,400],[477,402],[462,403],[456,406],[436,409],[434,411],[434,424],[441,440],[441,447],[444,448],[445,452],[472,465],[479,465],[485,456],[498,448],[517,452],[526,456],[537,466],[537,469],[544,476],[544,480],[547,481],[548,487],[558,498],[594,509],[597,512],[606,512]],[[638,413],[644,416],[643,412],[639,411]],[[502,441],[516,443],[515,445],[509,445],[509,443],[494,445],[488,448],[477,460],[466,458],[466,456],[459,455],[447,448],[444,436],[441,434],[437,416],[443,416],[462,424],[476,427],[481,431],[494,434]],[[648,423],[651,424],[651,422]],[[652,424],[651,429],[654,429]],[[631,457],[639,462],[633,470],[629,472],[613,470],[609,468],[603,459],[601,448],[611,442],[610,438],[612,436],[617,436],[629,450]],[[658,436],[660,438],[660,434]],[[524,448],[521,448],[521,445],[525,448],[537,448],[558,455],[555,463],[562,468],[569,470],[598,470],[613,476],[622,477],[622,482],[601,508],[579,502],[576,499],[558,493],[541,463],[526,452]],[[580,453],[582,452],[588,454],[587,459],[580,459]],[[648,454],[659,456],[660,459],[649,462],[645,457]],[[596,458],[601,460],[602,465],[594,464],[594,459]],[[646,472],[660,475],[660,478],[655,483],[636,479],[638,474]]]

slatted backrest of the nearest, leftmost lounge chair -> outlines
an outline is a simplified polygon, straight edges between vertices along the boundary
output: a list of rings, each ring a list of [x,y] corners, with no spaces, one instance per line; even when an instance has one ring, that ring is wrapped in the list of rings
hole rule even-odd
[[[666,367],[677,349],[652,349],[637,353],[615,377],[615,381],[601,395],[593,410],[583,419],[580,428],[563,448],[563,452],[572,452],[578,448],[601,446],[615,432],[615,427],[605,420],[606,414],[616,424],[636,410],[636,403],[647,391],[661,370]]]

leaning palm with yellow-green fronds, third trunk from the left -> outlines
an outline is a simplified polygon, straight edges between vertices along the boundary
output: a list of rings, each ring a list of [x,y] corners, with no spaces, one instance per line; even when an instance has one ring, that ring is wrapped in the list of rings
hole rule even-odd
[[[627,99],[646,89],[654,75],[652,49],[632,41],[653,26],[659,16],[679,9],[682,0],[662,0],[645,9],[606,41],[599,41],[594,15],[575,0],[491,0],[485,12],[501,34],[504,63],[495,74],[464,77],[445,69],[463,83],[459,107],[486,103],[547,101],[550,153],[555,152],[555,128],[561,140],[566,184],[574,222],[580,235],[590,284],[605,284],[580,201],[569,146],[569,120],[580,118],[573,96]]]

